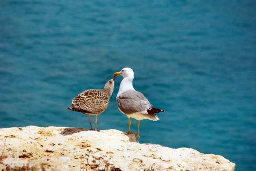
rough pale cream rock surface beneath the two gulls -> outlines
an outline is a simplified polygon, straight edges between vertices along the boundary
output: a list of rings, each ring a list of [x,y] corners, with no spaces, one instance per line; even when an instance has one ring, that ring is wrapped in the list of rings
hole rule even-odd
[[[220,155],[140,144],[110,129],[23,127],[0,129],[0,171],[233,171]]]

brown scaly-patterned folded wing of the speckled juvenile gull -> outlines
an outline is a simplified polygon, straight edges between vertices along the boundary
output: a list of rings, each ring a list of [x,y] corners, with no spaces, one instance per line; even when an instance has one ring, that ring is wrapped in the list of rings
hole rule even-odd
[[[109,104],[107,94],[102,90],[90,89],[78,94],[72,100],[72,105],[95,114],[102,113]]]

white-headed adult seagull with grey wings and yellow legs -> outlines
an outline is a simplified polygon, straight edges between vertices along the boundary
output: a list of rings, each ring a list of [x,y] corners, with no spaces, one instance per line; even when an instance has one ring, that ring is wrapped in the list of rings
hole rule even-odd
[[[121,75],[123,77],[116,96],[116,102],[119,110],[128,117],[128,134],[131,133],[131,119],[138,120],[137,136],[139,135],[140,120],[149,119],[157,121],[159,118],[155,113],[164,112],[162,109],[152,107],[147,98],[133,87],[134,72],[132,68],[126,67],[121,71],[114,73],[114,77]]]

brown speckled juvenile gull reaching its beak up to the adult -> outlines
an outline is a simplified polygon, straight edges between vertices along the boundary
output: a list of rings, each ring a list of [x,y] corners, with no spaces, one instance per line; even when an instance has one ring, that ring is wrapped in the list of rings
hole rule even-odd
[[[109,80],[103,89],[89,89],[78,94],[72,100],[72,105],[68,109],[72,111],[87,114],[93,130],[90,115],[95,115],[95,130],[97,130],[97,116],[104,112],[108,105],[109,99],[113,93],[115,85],[115,77]]]

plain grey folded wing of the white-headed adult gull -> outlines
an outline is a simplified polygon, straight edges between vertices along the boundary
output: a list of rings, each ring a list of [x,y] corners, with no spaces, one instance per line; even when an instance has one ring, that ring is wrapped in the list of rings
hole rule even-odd
[[[151,107],[149,101],[139,91],[129,90],[116,98],[117,106],[125,114],[136,112],[147,114],[147,109]]]

